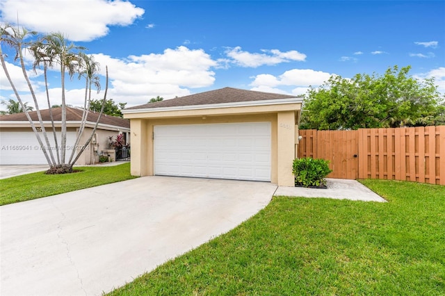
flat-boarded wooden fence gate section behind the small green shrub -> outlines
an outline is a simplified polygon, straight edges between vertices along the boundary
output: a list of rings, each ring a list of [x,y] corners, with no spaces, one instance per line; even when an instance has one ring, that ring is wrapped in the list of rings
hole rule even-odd
[[[358,131],[300,130],[298,157],[323,158],[330,161],[328,178],[359,177]]]

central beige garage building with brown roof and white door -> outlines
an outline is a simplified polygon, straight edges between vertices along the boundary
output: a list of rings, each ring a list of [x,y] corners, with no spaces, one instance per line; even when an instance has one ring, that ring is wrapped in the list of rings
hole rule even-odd
[[[295,186],[302,97],[222,88],[122,110],[131,174]]]

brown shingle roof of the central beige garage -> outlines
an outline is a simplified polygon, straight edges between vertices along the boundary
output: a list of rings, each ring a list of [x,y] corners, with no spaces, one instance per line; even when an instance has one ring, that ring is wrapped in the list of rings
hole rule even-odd
[[[177,106],[197,106],[208,104],[224,104],[242,101],[264,101],[270,99],[291,99],[297,98],[289,94],[273,94],[270,92],[257,92],[254,90],[241,90],[238,88],[220,88],[219,90],[210,90],[199,94],[191,94],[185,97],[168,99],[165,101],[156,101],[154,103],[133,106],[129,109],[145,108],[167,108]]]

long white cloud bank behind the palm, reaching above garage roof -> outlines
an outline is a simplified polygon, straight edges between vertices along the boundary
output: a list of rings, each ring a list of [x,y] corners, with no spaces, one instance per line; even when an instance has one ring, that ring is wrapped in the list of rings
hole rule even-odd
[[[211,70],[217,65],[202,49],[188,49],[178,47],[177,49],[165,49],[161,54],[147,54],[142,56],[128,56],[124,59],[113,58],[105,54],[94,54],[95,60],[100,63],[102,91],[99,94],[92,94],[93,99],[100,99],[104,96],[105,71],[108,66],[108,99],[117,102],[127,102],[127,107],[145,104],[149,99],[161,96],[164,99],[181,97],[191,94],[191,88],[202,88],[212,85],[215,81],[215,73]],[[24,101],[32,101],[26,94],[26,83],[22,81],[22,70],[9,65],[11,76],[17,87],[24,91]],[[3,71],[0,71],[1,75]],[[30,74],[33,74],[30,72]],[[39,72],[40,74],[40,72]],[[53,76],[54,72],[49,72]],[[35,74],[34,74],[35,76]],[[55,75],[58,76],[58,75]],[[44,88],[42,87],[42,77],[35,77],[35,92],[38,96],[39,105],[47,106]],[[10,97],[10,88],[7,80],[1,79],[1,90],[3,97]],[[20,80],[22,79],[22,80]],[[18,82],[17,82],[18,81]],[[57,83],[57,79],[55,83]],[[83,106],[84,92],[83,83],[73,79],[66,81],[67,104],[73,106]],[[40,88],[38,87],[40,86]],[[50,85],[51,86],[51,85]],[[52,104],[60,104],[60,85],[53,85],[49,90]],[[8,93],[8,94],[6,94]]]

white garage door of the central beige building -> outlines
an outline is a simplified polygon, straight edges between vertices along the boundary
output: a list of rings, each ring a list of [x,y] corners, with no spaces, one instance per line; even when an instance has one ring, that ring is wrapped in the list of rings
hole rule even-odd
[[[154,174],[270,181],[270,122],[154,126]]]

